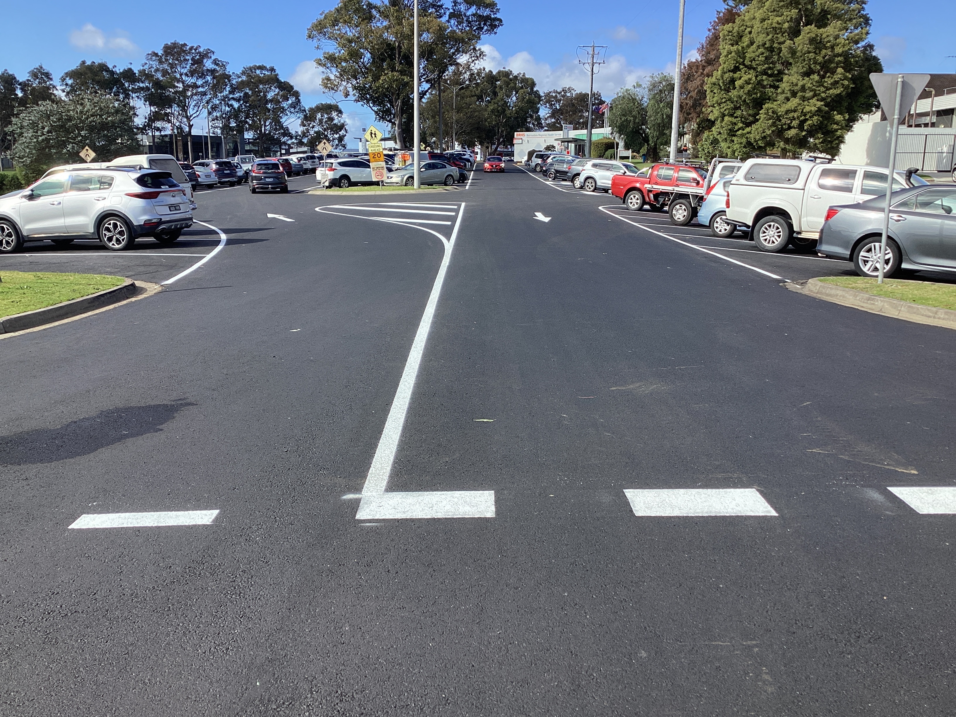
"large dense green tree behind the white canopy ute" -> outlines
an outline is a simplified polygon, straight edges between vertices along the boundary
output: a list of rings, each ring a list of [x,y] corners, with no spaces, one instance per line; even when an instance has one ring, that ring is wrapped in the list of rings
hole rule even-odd
[[[706,80],[714,143],[731,156],[804,151],[836,156],[875,106],[865,0],[752,0],[721,30],[720,68]]]

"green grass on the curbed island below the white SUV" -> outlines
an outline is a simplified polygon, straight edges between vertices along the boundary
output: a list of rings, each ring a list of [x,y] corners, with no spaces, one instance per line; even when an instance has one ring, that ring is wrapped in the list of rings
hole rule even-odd
[[[0,272],[0,316],[45,306],[120,286],[122,276],[97,273]]]

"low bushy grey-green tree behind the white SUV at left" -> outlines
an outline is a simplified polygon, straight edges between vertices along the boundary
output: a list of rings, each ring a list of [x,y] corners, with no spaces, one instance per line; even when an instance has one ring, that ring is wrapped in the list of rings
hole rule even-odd
[[[129,103],[98,93],[22,108],[13,119],[12,133],[13,161],[33,173],[54,163],[79,162],[85,146],[97,153],[98,161],[139,146]]]

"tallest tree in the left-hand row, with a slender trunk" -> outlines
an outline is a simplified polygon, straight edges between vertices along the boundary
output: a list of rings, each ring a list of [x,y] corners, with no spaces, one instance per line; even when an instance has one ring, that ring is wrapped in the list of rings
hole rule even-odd
[[[192,162],[192,127],[206,105],[226,91],[227,64],[211,50],[185,42],[167,42],[160,52],[146,54],[141,77],[151,88],[165,93],[164,119],[182,124]]]

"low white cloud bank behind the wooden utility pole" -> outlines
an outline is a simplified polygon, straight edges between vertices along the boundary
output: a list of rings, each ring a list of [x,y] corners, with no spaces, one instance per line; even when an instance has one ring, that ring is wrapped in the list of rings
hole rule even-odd
[[[574,87],[578,92],[588,91],[590,79],[588,72],[575,60],[565,60],[556,67],[552,67],[547,62],[538,62],[532,54],[527,52],[512,54],[505,59],[493,45],[482,45],[481,49],[485,52],[485,59],[480,63],[483,67],[492,71],[504,67],[511,72],[524,73],[534,78],[537,89],[541,92],[560,87]],[[672,71],[673,62],[671,62]],[[630,87],[653,72],[655,70],[634,67],[622,54],[613,54],[607,57],[605,64],[599,67],[595,75],[595,89],[600,90],[604,98],[612,98],[621,87]]]

